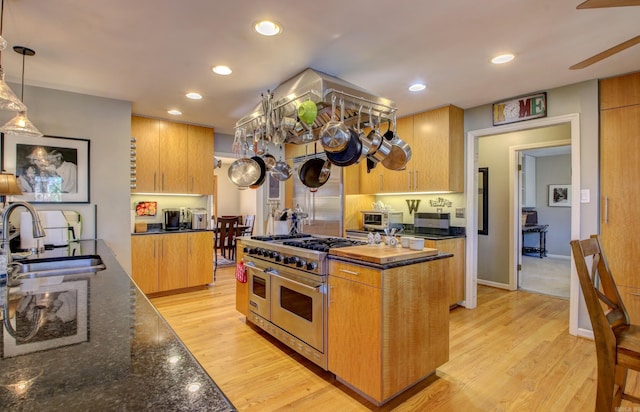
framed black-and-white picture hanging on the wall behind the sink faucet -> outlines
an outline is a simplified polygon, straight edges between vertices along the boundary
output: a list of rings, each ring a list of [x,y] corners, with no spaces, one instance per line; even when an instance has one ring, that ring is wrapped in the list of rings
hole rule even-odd
[[[87,139],[2,135],[2,169],[14,173],[31,203],[89,203]]]

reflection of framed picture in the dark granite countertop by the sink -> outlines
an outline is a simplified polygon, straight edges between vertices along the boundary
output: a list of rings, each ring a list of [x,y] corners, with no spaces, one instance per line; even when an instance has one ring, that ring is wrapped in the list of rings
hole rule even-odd
[[[88,280],[41,285],[25,292],[18,300],[16,313],[10,319],[19,336],[26,336],[35,327],[35,307],[43,307],[37,333],[26,342],[18,342],[6,331],[2,356],[10,358],[26,353],[86,342],[88,337]],[[55,277],[48,278],[51,283]]]

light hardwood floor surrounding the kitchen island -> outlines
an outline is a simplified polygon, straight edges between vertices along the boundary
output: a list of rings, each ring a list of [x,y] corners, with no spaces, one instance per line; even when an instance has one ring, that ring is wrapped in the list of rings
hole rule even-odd
[[[219,269],[207,290],[152,302],[240,411],[591,411],[595,405],[595,346],[569,335],[564,299],[479,287],[477,309],[451,312],[450,361],[380,408],[246,324],[235,310],[233,268]],[[630,376],[628,387],[637,386]]]

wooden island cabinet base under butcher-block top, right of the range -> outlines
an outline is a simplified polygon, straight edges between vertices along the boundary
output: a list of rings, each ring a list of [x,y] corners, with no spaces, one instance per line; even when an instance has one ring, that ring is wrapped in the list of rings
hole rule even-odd
[[[329,262],[328,368],[339,380],[381,404],[448,360],[446,260]]]

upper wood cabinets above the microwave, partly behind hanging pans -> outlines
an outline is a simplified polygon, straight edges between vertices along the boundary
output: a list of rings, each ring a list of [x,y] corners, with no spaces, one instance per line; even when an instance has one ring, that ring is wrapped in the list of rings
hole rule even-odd
[[[397,135],[411,147],[405,170],[360,168],[363,194],[464,191],[464,111],[444,106],[398,119]]]

